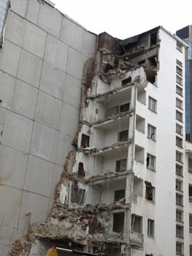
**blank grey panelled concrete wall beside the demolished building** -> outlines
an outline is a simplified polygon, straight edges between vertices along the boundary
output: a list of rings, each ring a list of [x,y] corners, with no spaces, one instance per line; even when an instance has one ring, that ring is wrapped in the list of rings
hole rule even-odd
[[[45,221],[77,130],[96,36],[48,4],[12,0],[0,50],[0,255]]]

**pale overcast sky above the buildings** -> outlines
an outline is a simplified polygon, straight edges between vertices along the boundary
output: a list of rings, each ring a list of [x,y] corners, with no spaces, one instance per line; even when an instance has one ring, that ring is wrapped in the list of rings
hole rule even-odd
[[[89,31],[124,39],[155,26],[175,33],[192,24],[192,0],[52,0]]]

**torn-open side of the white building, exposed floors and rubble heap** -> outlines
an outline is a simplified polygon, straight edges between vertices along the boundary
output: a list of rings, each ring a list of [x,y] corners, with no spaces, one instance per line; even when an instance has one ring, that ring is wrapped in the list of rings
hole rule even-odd
[[[27,255],[35,240],[62,242],[65,248],[105,255],[140,255],[143,235],[137,208],[143,184],[139,173],[144,148],[136,131],[144,118],[148,83],[158,72],[158,29],[125,40],[107,33],[97,38],[94,59],[85,63],[80,125],[55,189],[45,223],[30,225],[9,256]],[[147,159],[148,160],[148,159]]]

